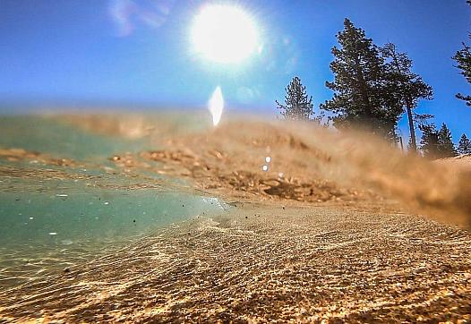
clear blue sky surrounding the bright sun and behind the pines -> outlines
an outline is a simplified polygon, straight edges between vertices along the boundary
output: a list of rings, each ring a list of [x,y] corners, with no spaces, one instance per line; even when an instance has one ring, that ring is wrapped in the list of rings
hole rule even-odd
[[[467,40],[465,0],[224,1],[253,16],[261,51],[242,64],[201,60],[190,26],[208,1],[2,0],[0,107],[81,103],[204,107],[220,85],[228,106],[276,114],[274,100],[294,75],[315,107],[330,98],[330,48],[348,17],[377,45],[391,41],[434,89],[419,111],[446,122],[454,140],[471,136],[471,87],[451,56]],[[218,3],[221,3],[220,1]],[[404,121],[401,127],[407,133]]]

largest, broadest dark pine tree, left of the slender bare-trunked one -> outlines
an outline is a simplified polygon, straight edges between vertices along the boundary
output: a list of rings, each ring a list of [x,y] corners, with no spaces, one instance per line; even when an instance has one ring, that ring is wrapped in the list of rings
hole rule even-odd
[[[361,127],[396,139],[394,131],[402,107],[385,87],[384,59],[364,30],[355,28],[348,19],[344,26],[337,35],[340,48],[332,48],[334,81],[326,82],[334,96],[321,109],[335,114],[331,119],[337,128]]]

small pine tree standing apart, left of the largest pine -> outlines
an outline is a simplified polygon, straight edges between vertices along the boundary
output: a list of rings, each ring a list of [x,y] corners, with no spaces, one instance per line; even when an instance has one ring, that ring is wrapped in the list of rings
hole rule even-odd
[[[295,76],[285,89],[285,104],[276,101],[280,114],[286,119],[292,120],[309,120],[313,115],[313,97],[308,97],[306,87],[303,86],[301,80]]]

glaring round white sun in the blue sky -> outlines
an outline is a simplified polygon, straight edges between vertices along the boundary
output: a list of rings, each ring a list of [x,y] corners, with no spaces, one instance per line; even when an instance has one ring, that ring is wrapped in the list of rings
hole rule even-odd
[[[213,62],[234,64],[252,55],[259,35],[252,17],[235,5],[201,8],[191,30],[193,51]]]

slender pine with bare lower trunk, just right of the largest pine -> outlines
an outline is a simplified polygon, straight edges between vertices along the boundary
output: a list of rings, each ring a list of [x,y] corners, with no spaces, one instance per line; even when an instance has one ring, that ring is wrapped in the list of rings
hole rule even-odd
[[[406,53],[399,53],[392,43],[381,48],[381,53],[386,58],[387,76],[390,85],[390,93],[394,94],[400,102],[403,110],[407,112],[410,141],[408,149],[411,152],[417,150],[415,140],[415,122],[423,124],[424,120],[432,118],[432,115],[418,115],[413,112],[420,99],[431,100],[432,87],[415,72],[412,72],[412,60]]]

